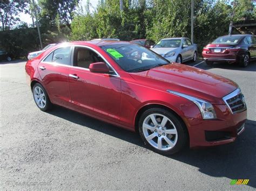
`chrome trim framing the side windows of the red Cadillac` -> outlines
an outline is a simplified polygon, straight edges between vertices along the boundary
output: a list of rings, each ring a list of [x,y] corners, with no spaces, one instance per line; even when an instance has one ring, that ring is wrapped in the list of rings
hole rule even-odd
[[[100,55],[100,57],[107,63],[107,65],[114,71],[115,74],[109,74],[110,76],[114,76],[114,77],[120,77],[120,75],[117,73],[117,71],[110,65],[110,63],[104,58],[104,56],[102,54],[100,54],[98,51],[96,51],[96,49],[93,49],[91,48],[90,46],[85,46],[85,45],[64,45],[64,46],[59,46],[58,48],[56,49],[59,49],[59,48],[64,48],[64,47],[84,47],[84,48],[88,48],[90,49],[91,51],[97,53],[98,55]],[[46,56],[42,59],[41,62],[43,63],[48,63],[48,64],[51,64],[51,65],[57,65],[57,66],[69,66],[69,67],[72,67],[72,68],[79,68],[79,69],[84,69],[86,71],[90,71],[89,68],[83,68],[83,67],[79,67],[79,66],[71,66],[71,65],[64,65],[63,63],[56,63],[56,62],[45,62],[44,60],[48,57],[48,55],[50,55],[52,52],[56,51],[56,49],[53,49],[50,53],[46,54]],[[72,51],[71,51],[72,52]],[[71,58],[71,57],[70,57]],[[71,62],[70,62],[71,63]]]

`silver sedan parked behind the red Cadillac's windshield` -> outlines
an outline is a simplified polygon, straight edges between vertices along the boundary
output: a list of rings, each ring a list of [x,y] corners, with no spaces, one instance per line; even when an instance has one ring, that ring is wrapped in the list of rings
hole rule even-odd
[[[188,38],[165,38],[150,48],[170,62],[185,62],[197,60],[197,45]]]

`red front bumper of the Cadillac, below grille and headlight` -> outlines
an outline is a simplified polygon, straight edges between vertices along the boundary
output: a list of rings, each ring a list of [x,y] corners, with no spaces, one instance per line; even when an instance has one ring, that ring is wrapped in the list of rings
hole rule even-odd
[[[190,147],[232,143],[245,130],[247,110],[231,114],[226,105],[214,105],[218,119],[189,118]]]

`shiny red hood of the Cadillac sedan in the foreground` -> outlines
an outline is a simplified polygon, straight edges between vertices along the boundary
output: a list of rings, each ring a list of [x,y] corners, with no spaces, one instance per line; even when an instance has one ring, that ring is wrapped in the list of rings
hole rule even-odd
[[[222,98],[238,88],[235,82],[225,77],[178,63],[130,74],[145,86],[177,91],[213,104],[225,104]]]

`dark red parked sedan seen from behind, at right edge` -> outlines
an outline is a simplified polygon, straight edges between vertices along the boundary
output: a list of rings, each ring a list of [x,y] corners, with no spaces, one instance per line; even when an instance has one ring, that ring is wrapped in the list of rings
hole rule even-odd
[[[204,47],[202,55],[207,65],[213,62],[239,63],[246,67],[256,58],[256,38],[251,34],[235,34],[215,39]]]

